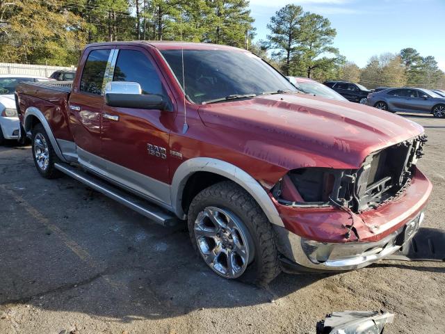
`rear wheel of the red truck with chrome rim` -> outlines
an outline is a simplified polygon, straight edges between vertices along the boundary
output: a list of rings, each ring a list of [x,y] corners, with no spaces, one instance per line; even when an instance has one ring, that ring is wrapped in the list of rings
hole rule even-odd
[[[54,167],[54,163],[58,162],[59,159],[54,152],[51,141],[49,141],[47,132],[40,123],[33,128],[31,152],[33,153],[35,168],[42,177],[55,179],[63,175]]]

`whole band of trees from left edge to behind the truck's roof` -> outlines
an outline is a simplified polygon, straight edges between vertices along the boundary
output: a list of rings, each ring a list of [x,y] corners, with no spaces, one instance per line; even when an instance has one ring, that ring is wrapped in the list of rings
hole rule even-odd
[[[246,46],[246,0],[0,1],[0,61],[75,65],[88,42],[184,40]]]

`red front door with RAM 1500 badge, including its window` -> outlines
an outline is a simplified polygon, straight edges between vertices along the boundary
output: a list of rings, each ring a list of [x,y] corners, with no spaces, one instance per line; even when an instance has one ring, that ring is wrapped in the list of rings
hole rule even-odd
[[[120,47],[112,81],[137,82],[143,94],[169,97],[148,51]],[[168,157],[175,112],[107,106],[102,109],[102,154],[113,180],[149,198],[170,204]]]

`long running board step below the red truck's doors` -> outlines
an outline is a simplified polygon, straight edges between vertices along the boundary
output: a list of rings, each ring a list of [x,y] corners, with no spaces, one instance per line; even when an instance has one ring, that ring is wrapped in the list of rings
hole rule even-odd
[[[54,164],[54,167],[73,179],[86,184],[95,191],[99,191],[99,193],[103,193],[105,196],[108,196],[109,198],[120,202],[122,205],[133,209],[143,216],[152,219],[152,221],[155,223],[166,227],[172,227],[179,223],[179,218],[167,210],[149,203],[146,200],[133,196],[131,193],[122,191],[121,189],[100,180],[98,177],[85,173],[78,168],[74,168],[64,163],[56,163]]]

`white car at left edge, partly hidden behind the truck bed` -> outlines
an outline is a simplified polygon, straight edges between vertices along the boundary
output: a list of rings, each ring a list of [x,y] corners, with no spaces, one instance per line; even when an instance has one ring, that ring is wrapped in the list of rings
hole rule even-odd
[[[15,86],[23,81],[49,81],[26,74],[0,74],[0,145],[5,139],[19,138],[19,118],[15,109]]]

